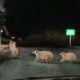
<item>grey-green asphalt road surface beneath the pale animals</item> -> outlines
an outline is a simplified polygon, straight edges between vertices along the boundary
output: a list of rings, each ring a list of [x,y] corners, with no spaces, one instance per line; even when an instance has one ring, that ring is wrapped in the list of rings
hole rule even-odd
[[[35,56],[31,55],[34,49],[50,50],[54,52],[55,58],[52,63],[34,62]],[[21,57],[0,61],[0,80],[16,80],[28,77],[50,77],[73,75],[80,76],[80,63],[59,62],[59,53],[62,51],[73,51],[80,56],[80,48],[44,48],[26,47],[21,48]]]

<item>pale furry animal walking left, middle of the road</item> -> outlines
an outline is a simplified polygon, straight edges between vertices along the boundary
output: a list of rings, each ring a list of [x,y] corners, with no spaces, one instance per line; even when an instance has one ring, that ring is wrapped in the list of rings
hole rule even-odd
[[[34,50],[32,52],[36,56],[35,61],[41,61],[41,62],[51,62],[53,59],[53,53],[50,51],[39,51],[39,50]]]

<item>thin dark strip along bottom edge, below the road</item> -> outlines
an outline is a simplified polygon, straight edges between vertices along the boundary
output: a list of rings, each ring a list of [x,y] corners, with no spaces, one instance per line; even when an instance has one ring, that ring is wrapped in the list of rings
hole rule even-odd
[[[49,76],[49,77],[28,77],[25,79],[15,79],[15,80],[80,80],[80,76]]]

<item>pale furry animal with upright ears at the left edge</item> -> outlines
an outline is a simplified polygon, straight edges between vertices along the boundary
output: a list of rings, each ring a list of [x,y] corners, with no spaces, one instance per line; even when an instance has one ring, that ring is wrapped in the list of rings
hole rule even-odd
[[[16,47],[16,42],[10,41],[7,47],[0,50],[0,59],[5,58],[18,58],[20,56],[20,51]]]

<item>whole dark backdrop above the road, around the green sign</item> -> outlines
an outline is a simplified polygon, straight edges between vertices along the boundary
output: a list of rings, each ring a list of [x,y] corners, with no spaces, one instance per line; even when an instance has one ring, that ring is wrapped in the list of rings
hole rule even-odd
[[[80,5],[78,1],[4,0],[9,37],[32,45],[69,45],[67,28],[74,28],[73,45],[80,45]],[[33,44],[34,43],[34,44]],[[21,43],[19,43],[21,44]]]

